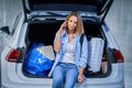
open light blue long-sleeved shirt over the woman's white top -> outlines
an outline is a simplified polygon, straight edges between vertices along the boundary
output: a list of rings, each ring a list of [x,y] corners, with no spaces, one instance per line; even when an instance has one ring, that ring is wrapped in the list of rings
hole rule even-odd
[[[57,36],[57,34],[56,34],[56,36]],[[56,40],[56,36],[55,36],[55,40]],[[86,64],[87,64],[87,58],[88,58],[88,41],[87,41],[87,37],[84,36],[82,46],[80,48],[79,40],[80,40],[80,35],[74,34],[74,37],[73,37],[73,42],[74,42],[74,46],[75,46],[75,54],[74,54],[75,59],[74,61],[78,68],[79,68],[79,66],[85,68]],[[67,43],[68,43],[68,35],[67,35],[67,32],[64,31],[61,35],[61,50],[58,53],[56,53],[56,58],[55,58],[54,65],[48,74],[50,77],[52,76],[52,73],[53,73],[55,66],[62,61]],[[80,54],[80,50],[81,50],[81,54]]]

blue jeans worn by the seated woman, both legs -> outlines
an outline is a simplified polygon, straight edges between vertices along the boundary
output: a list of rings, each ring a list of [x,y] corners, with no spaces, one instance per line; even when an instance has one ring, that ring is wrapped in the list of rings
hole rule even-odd
[[[53,88],[74,88],[77,82],[78,68],[70,63],[59,63],[53,72]]]

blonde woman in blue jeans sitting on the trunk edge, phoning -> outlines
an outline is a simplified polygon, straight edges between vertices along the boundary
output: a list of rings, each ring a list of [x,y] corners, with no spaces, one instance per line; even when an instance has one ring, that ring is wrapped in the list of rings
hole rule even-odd
[[[57,53],[51,73],[53,75],[53,88],[74,88],[75,84],[84,81],[84,70],[87,63],[87,38],[84,36],[80,54],[80,35],[84,26],[80,15],[70,12],[61,25],[54,41],[54,50]]]

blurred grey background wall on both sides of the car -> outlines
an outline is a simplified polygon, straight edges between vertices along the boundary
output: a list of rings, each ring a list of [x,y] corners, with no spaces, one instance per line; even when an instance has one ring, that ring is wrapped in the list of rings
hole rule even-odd
[[[132,41],[130,41],[132,38],[131,4],[132,0],[114,0],[106,18],[106,22],[108,23],[124,56],[125,88],[132,88]],[[21,11],[21,0],[0,0],[0,28],[9,25],[11,30],[16,14]]]

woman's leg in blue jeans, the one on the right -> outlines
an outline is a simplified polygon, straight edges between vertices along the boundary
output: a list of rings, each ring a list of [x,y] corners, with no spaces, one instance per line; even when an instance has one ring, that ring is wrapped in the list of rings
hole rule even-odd
[[[74,64],[69,64],[66,72],[66,82],[65,88],[74,88],[75,84],[77,82],[78,77],[78,68]]]

